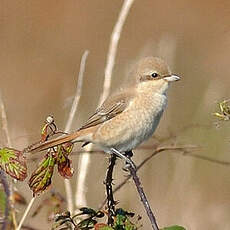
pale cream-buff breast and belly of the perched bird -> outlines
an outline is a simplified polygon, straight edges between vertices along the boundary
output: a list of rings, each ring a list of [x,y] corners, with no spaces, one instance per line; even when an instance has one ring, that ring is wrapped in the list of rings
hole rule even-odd
[[[105,122],[95,133],[98,143],[120,151],[134,149],[152,136],[167,98],[164,94],[140,95],[135,97],[125,111]]]

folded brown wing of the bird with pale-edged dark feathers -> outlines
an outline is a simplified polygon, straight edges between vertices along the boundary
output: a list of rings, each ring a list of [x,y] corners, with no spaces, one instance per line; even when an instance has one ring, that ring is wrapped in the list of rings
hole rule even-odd
[[[124,92],[109,97],[80,129],[99,125],[122,113],[127,108],[133,96],[133,92]]]

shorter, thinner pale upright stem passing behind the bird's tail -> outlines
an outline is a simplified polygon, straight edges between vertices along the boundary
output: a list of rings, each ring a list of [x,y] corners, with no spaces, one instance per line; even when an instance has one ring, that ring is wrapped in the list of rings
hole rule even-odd
[[[73,118],[75,117],[77,107],[79,104],[79,100],[81,98],[85,64],[86,64],[86,59],[87,59],[88,54],[89,54],[89,51],[86,50],[83,53],[82,58],[81,58],[80,71],[79,71],[78,81],[77,81],[77,89],[76,89],[73,104],[72,104],[72,107],[71,107],[71,110],[69,113],[69,118],[68,118],[68,121],[66,123],[65,131],[64,131],[66,133],[70,131],[71,125],[73,123]],[[65,183],[67,207],[68,207],[68,210],[70,211],[70,213],[73,213],[74,201],[73,201],[73,192],[72,192],[71,184],[70,184],[70,181],[68,179],[65,179],[64,183]]]

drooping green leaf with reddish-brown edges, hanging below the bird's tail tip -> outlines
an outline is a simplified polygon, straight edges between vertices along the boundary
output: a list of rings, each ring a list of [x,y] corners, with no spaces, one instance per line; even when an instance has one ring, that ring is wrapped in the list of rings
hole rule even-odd
[[[32,173],[29,186],[34,196],[45,191],[51,184],[55,164],[55,155],[47,153],[39,167]]]

